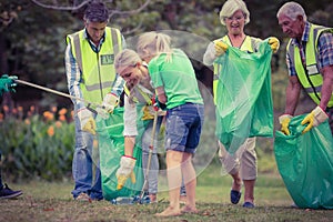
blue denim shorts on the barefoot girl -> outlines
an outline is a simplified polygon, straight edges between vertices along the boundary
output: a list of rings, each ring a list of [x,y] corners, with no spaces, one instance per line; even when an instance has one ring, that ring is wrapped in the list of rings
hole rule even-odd
[[[168,110],[165,149],[195,153],[204,119],[203,104],[185,103]]]

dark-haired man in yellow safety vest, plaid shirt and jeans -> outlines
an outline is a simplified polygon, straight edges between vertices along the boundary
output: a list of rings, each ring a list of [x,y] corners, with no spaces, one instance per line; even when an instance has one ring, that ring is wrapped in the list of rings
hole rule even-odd
[[[114,57],[124,47],[120,31],[107,27],[109,11],[100,1],[91,2],[84,12],[84,29],[67,37],[65,71],[71,95],[102,104],[107,112],[118,105],[124,81],[114,70]],[[92,159],[97,114],[81,100],[74,104],[75,150],[71,192],[74,200],[102,200],[101,172]],[[93,165],[97,165],[93,173]],[[93,174],[95,178],[93,179]]]

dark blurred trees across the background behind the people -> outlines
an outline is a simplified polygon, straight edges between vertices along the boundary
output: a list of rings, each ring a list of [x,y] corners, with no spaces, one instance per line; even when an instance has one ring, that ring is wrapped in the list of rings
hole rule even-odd
[[[65,36],[82,29],[82,12],[90,0],[0,0],[0,72],[67,92],[63,53]],[[225,34],[219,12],[225,1],[213,0],[104,0],[110,9],[110,26],[121,29],[125,39],[145,31],[178,30],[202,37],[206,41]],[[284,0],[245,0],[251,12],[248,34],[262,39],[283,33],[276,12]],[[302,1],[311,21],[332,24],[331,0]],[[313,13],[312,13],[313,12]],[[326,23],[325,23],[326,22]],[[196,38],[194,38],[196,40]],[[183,39],[186,47],[200,51],[208,43]],[[281,48],[280,54],[284,49]],[[283,57],[282,57],[283,60]],[[193,61],[198,78],[211,87],[212,73]],[[30,94],[31,92],[31,94]],[[19,85],[16,101],[36,98],[36,103],[70,104],[68,99],[41,93]],[[28,103],[32,103],[29,101]]]

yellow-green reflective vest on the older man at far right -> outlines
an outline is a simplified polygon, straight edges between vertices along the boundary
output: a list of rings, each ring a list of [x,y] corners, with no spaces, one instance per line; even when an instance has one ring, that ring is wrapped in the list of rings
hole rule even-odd
[[[304,69],[302,59],[300,56],[300,48],[296,44],[291,46],[292,40],[289,41],[286,50],[290,54],[290,59],[292,64],[294,64],[297,78],[305,89],[306,93],[311,97],[311,99],[320,104],[321,100],[321,91],[323,84],[323,75],[319,71],[317,67],[317,41],[321,33],[324,31],[333,32],[333,29],[325,28],[321,26],[311,24],[309,41],[305,47],[305,67]],[[327,103],[327,107],[333,107],[333,94]]]

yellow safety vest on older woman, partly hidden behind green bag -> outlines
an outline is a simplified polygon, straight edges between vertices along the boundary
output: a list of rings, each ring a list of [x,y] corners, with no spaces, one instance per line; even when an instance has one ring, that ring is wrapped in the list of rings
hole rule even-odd
[[[221,41],[221,40],[224,43],[226,43],[228,46],[232,46],[232,43],[231,43],[228,36],[224,36],[223,38],[216,39],[216,40],[214,40],[214,42]],[[254,52],[254,50],[259,46],[259,42],[261,42],[260,39],[246,36],[245,39],[244,39],[244,42],[242,43],[242,46],[240,48],[240,50]],[[222,70],[222,65],[218,64],[218,63],[214,63],[213,67],[214,67],[213,95],[214,95],[214,103],[216,104],[216,97],[215,95],[216,95],[216,89],[218,89],[220,71]]]

